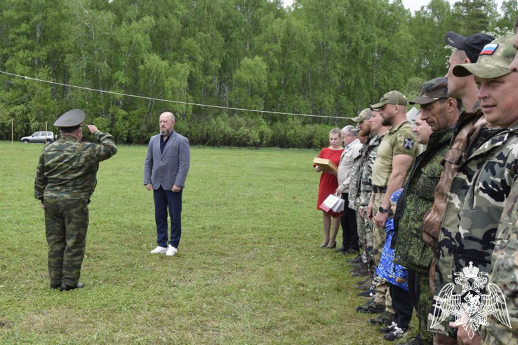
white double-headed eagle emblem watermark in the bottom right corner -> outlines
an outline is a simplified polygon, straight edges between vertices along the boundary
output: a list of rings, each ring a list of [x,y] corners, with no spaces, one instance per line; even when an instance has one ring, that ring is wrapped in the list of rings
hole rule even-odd
[[[487,284],[488,273],[479,272],[479,268],[473,267],[473,262],[470,262],[469,267],[464,267],[462,272],[455,275],[459,277],[455,278],[454,282],[462,286],[462,293],[454,295],[453,283],[441,288],[430,328],[443,322],[450,314],[456,317],[455,326],[462,325],[470,339],[480,325],[488,326],[486,319],[489,315],[495,315],[501,324],[511,328],[502,290],[496,284]],[[483,285],[486,285],[487,295],[480,292]]]

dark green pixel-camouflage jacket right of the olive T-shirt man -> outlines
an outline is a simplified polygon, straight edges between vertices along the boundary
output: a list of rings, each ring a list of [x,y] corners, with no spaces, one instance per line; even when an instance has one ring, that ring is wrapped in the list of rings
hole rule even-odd
[[[452,129],[447,129],[430,135],[430,143],[416,160],[394,215],[394,262],[421,273],[428,273],[434,255],[423,241],[421,226],[434,202],[434,190],[443,170],[441,162],[450,147],[452,133]]]

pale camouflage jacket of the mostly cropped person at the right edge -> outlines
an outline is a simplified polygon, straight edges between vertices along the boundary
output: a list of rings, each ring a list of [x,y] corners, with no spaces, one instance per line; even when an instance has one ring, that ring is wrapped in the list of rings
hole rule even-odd
[[[503,208],[491,258],[489,282],[502,291],[510,317],[511,329],[495,315],[488,316],[488,326],[482,326],[481,344],[518,343],[518,178]]]

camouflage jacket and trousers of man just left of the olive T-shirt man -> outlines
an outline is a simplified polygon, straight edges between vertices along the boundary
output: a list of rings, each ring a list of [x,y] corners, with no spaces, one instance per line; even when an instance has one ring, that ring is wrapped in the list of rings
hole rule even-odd
[[[352,176],[356,179],[356,190],[351,193],[351,186],[349,186],[349,204],[356,207],[356,215],[358,217],[358,234],[362,233],[360,241],[364,248],[365,257],[363,262],[374,268],[374,253],[372,252],[372,222],[367,217],[367,206],[369,204],[370,195],[372,194],[372,164],[376,159],[376,150],[383,139],[383,135],[379,137],[375,133],[367,139],[368,144],[363,145],[360,155],[354,161],[358,164],[353,170]],[[360,179],[358,180],[358,177]],[[360,216],[359,210],[363,208],[365,212],[363,217]],[[371,267],[370,267],[371,268]]]

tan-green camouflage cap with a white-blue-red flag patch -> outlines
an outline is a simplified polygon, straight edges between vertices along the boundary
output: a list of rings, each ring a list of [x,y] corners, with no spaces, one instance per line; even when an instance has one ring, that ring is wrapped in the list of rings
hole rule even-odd
[[[455,77],[474,75],[483,79],[498,78],[510,73],[509,65],[515,57],[515,48],[512,46],[514,37],[495,39],[482,49],[477,63],[466,63],[453,68]]]

